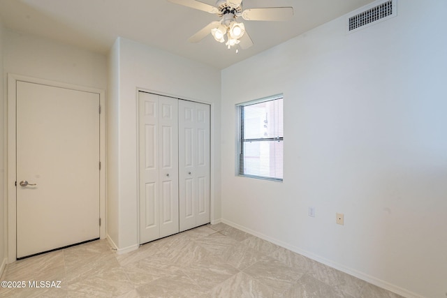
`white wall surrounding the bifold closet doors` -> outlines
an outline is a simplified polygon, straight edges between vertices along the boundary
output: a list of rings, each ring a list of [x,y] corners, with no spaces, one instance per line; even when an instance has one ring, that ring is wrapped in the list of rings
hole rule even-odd
[[[212,219],[219,219],[220,71],[125,38],[117,40],[110,57],[115,61],[111,61],[109,69],[118,71],[110,85],[118,84],[119,92],[118,97],[115,94],[111,99],[117,105],[117,119],[113,120],[117,128],[115,135],[109,134],[109,139],[116,140],[119,146],[110,160],[119,169],[115,189],[119,212],[114,215],[118,218],[108,218],[118,223],[118,239],[112,240],[121,251],[138,245],[138,88],[212,104]]]

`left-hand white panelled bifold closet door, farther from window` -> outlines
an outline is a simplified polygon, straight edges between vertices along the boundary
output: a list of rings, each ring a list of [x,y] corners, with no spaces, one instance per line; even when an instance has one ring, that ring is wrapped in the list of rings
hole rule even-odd
[[[178,100],[139,92],[140,243],[179,232]]]

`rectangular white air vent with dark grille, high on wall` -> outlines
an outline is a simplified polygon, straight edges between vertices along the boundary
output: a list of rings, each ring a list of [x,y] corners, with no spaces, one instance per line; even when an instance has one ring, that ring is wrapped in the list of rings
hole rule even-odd
[[[385,1],[378,6],[369,8],[368,10],[357,13],[352,17],[349,17],[348,30],[353,31],[364,27],[368,24],[375,24],[379,20],[386,20],[388,17],[394,17],[396,15],[395,0]]]

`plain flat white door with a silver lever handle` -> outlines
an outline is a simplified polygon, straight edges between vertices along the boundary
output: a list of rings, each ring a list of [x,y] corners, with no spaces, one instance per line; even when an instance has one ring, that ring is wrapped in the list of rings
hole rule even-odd
[[[17,258],[98,238],[99,94],[17,82],[16,100]]]

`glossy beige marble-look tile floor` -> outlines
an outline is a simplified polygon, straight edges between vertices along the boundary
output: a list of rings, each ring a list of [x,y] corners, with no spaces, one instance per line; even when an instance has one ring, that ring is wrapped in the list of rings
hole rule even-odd
[[[400,297],[219,223],[117,255],[107,240],[7,265],[0,297]],[[61,281],[29,288],[28,281]]]

